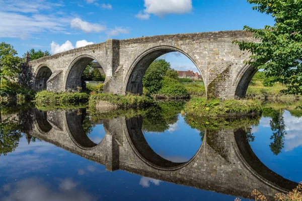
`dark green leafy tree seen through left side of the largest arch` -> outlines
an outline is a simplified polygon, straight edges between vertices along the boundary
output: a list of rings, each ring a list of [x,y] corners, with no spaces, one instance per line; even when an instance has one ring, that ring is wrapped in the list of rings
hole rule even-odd
[[[143,87],[149,91],[149,93],[157,93],[161,89],[161,80],[166,75],[168,69],[171,69],[171,65],[165,59],[156,59],[147,68],[143,78]]]

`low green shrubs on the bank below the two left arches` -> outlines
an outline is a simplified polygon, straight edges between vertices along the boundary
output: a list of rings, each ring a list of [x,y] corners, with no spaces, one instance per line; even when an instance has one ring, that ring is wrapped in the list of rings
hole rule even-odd
[[[85,104],[89,100],[87,93],[70,93],[70,92],[49,92],[46,90],[40,91],[35,97],[36,104]]]

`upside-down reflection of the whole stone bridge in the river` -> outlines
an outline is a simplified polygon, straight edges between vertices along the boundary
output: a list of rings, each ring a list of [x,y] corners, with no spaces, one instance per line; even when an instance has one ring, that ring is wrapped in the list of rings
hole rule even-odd
[[[86,110],[37,111],[30,135],[106,166],[144,177],[249,198],[261,189],[269,199],[296,182],[266,167],[254,154],[244,129],[205,130],[202,144],[187,162],[158,155],[144,138],[142,117],[103,120],[105,137],[94,143],[82,123]]]

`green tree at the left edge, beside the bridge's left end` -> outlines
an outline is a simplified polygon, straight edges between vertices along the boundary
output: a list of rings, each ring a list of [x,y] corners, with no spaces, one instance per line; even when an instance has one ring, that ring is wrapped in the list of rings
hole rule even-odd
[[[2,79],[11,80],[18,76],[20,59],[13,46],[2,42],[0,44],[0,86]]]

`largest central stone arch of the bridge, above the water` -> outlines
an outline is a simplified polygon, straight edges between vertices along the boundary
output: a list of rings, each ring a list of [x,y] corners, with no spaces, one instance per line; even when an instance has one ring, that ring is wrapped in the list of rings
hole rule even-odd
[[[127,71],[124,79],[124,86],[126,92],[131,93],[141,93],[142,92],[142,77],[147,70],[148,66],[158,57],[170,53],[170,52],[180,52],[187,56],[199,70],[203,80],[205,79],[205,72],[199,67],[198,60],[189,55],[187,52],[180,48],[170,46],[170,45],[160,45],[149,48],[141,53],[131,64],[129,70]],[[206,85],[205,85],[206,86]]]

